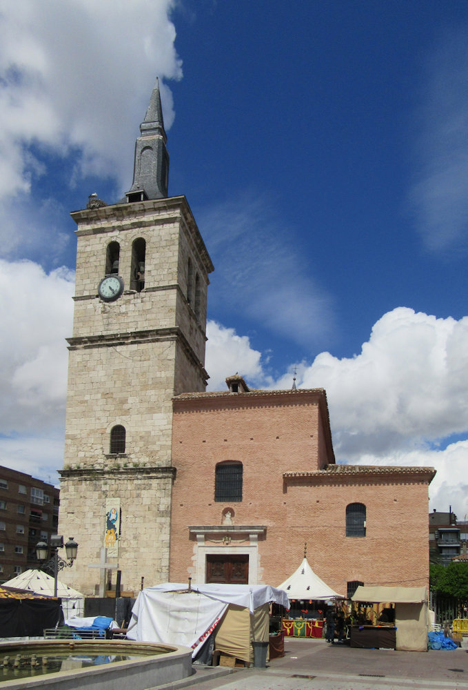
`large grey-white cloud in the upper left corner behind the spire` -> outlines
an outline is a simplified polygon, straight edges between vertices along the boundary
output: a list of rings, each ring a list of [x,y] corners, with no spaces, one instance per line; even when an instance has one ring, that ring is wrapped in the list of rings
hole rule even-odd
[[[0,2],[1,195],[28,192],[44,152],[73,152],[75,179],[92,173],[130,183],[134,124],[143,119],[154,78],[182,74],[170,21],[175,4]],[[172,95],[161,89],[169,128]]]

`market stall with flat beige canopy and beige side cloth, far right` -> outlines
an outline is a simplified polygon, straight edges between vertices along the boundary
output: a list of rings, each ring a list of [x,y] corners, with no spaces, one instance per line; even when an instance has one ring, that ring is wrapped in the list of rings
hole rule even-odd
[[[425,587],[359,586],[352,601],[377,604],[372,624],[358,622],[351,626],[352,647],[427,651]]]

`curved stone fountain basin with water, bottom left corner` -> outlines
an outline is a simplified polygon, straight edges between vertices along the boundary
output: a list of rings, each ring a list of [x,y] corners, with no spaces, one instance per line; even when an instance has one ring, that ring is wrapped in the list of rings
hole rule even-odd
[[[71,668],[29,678],[1,680],[1,690],[152,690],[192,675],[192,650],[173,644],[134,642],[133,640],[37,640],[32,642],[1,642],[0,660],[6,655],[37,655],[43,657],[69,655],[119,655],[131,657],[125,661],[101,666]]]

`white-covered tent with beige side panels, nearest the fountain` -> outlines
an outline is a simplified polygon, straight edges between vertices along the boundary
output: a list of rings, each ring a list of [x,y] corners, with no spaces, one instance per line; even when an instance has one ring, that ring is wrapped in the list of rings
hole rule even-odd
[[[139,592],[127,637],[140,642],[183,644],[195,656],[215,633],[215,648],[252,661],[252,640],[267,642],[269,602],[289,608],[284,591],[262,584],[167,582]]]

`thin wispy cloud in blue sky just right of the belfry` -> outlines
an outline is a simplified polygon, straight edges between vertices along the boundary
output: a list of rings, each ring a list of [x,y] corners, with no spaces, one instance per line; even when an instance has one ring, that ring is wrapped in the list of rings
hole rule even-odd
[[[330,295],[294,249],[294,230],[260,195],[216,204],[200,226],[216,266],[210,304],[242,315],[301,346],[322,342],[334,328]],[[221,278],[220,278],[221,277]]]

